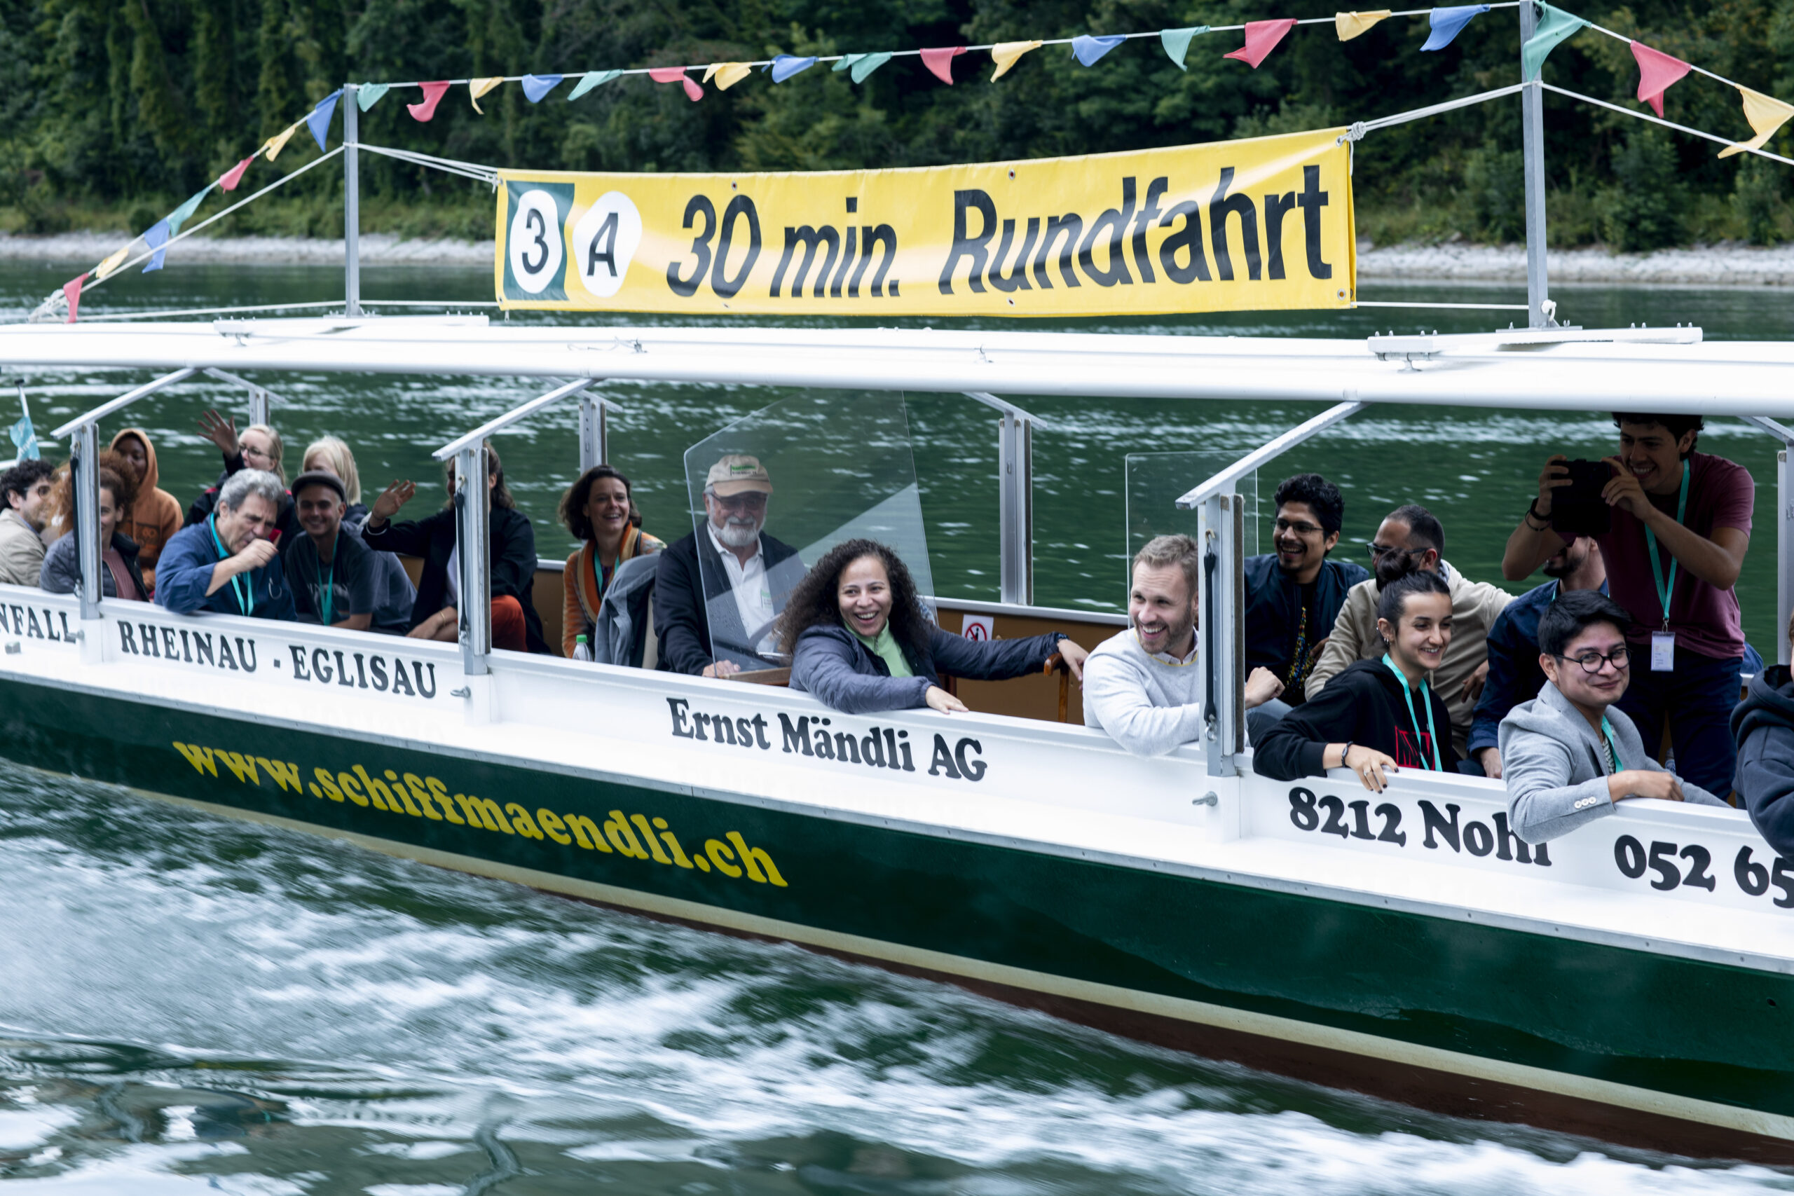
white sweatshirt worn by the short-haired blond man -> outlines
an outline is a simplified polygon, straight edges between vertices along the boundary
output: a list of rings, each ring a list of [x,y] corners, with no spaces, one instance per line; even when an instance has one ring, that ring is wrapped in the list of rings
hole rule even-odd
[[[1202,739],[1200,656],[1171,665],[1146,654],[1134,628],[1096,646],[1084,662],[1084,724],[1139,757]]]

